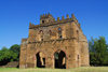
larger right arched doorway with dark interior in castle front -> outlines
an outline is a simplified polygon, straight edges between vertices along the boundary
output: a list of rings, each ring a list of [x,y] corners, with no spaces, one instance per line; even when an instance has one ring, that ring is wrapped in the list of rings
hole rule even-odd
[[[54,64],[57,69],[66,69],[66,54],[63,51],[55,52]]]

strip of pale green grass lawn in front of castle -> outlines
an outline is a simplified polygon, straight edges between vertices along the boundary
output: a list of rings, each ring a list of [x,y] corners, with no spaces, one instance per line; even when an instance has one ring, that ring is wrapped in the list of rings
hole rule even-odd
[[[79,67],[71,69],[48,69],[48,68],[0,68],[0,72],[108,72],[108,67]]]

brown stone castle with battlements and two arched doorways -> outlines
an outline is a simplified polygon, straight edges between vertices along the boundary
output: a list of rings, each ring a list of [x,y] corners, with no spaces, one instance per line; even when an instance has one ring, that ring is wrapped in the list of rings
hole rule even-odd
[[[90,66],[89,46],[76,16],[57,20],[40,15],[40,25],[29,23],[29,35],[22,39],[19,68],[77,68]]]

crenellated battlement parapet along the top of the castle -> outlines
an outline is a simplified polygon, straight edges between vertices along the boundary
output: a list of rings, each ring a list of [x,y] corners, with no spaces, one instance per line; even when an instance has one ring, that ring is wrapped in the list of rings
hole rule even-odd
[[[55,20],[55,18],[50,13],[45,15],[44,14],[40,15],[40,19],[46,19],[46,18],[51,18],[51,19],[48,19],[49,21],[44,20],[44,24],[40,23],[40,25],[33,25],[29,23],[29,28],[38,28],[38,27],[57,25],[57,24],[63,24],[63,23],[68,23],[68,21],[75,21],[77,26],[80,28],[80,24],[78,23],[78,19],[76,18],[73,14],[71,14],[71,17],[69,17],[69,15],[67,14],[66,18],[62,16],[62,19],[57,17],[57,20]]]

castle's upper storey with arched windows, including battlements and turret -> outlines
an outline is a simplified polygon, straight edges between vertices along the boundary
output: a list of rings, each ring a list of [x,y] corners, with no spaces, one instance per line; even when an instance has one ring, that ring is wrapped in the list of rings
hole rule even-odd
[[[38,41],[51,41],[51,40],[63,40],[63,39],[79,39],[83,35],[76,16],[72,14],[62,19],[57,17],[57,20],[49,13],[40,15],[40,25],[29,24],[29,37],[28,42]]]

